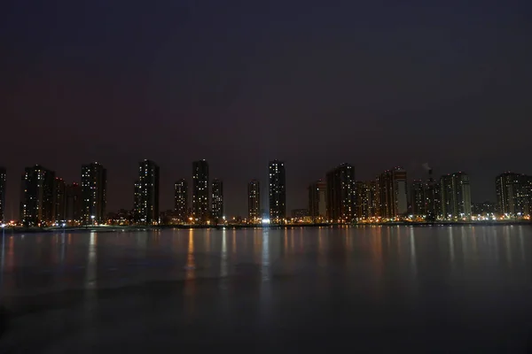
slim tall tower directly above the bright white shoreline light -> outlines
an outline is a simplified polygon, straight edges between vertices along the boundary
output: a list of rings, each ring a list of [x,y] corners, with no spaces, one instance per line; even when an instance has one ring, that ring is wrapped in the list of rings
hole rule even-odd
[[[270,161],[268,166],[270,181],[270,221],[280,223],[286,219],[286,171],[285,163]]]

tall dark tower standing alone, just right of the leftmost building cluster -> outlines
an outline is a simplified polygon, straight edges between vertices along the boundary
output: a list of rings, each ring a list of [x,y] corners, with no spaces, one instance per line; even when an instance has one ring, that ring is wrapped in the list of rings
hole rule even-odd
[[[135,204],[138,223],[145,225],[159,223],[159,166],[151,160],[138,163]]]

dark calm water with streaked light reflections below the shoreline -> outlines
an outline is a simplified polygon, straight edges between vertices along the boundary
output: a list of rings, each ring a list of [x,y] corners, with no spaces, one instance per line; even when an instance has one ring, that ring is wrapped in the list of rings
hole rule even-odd
[[[0,352],[532,349],[532,227],[6,235],[2,270]]]

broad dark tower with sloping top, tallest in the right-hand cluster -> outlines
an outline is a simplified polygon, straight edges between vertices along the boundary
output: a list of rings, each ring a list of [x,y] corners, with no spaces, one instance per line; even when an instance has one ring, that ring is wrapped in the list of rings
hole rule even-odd
[[[327,173],[327,217],[334,222],[355,218],[355,167],[341,164]]]

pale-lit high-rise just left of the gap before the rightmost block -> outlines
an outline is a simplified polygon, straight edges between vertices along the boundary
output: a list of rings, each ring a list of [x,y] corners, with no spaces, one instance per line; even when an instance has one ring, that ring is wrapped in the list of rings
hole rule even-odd
[[[471,218],[471,189],[467,174],[460,172],[442,176],[440,189],[443,219]]]

